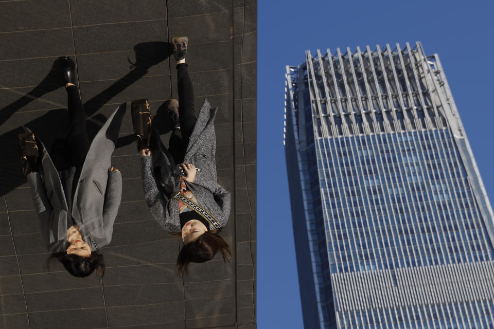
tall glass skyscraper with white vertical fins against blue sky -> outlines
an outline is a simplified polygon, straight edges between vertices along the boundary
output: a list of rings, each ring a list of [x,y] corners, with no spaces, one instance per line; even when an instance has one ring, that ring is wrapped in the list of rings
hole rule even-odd
[[[306,329],[494,328],[494,215],[437,54],[306,51],[285,111]]]

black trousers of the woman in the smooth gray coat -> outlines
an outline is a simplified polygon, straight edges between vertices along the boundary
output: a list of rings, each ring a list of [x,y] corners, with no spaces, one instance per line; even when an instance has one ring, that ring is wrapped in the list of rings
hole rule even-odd
[[[86,133],[86,115],[76,86],[68,86],[68,134],[56,139],[51,147],[51,159],[57,170],[82,167],[90,143]]]

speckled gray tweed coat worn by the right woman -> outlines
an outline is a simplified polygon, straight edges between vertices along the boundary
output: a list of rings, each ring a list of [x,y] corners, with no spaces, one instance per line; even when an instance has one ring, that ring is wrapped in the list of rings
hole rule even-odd
[[[193,183],[186,181],[185,184],[196,197],[197,203],[224,227],[230,216],[230,192],[217,181],[214,125],[217,109],[211,109],[207,100],[201,106],[184,157],[184,163],[192,163],[200,171]],[[180,190],[180,179],[174,174],[175,163],[160,136],[153,132],[151,138],[151,156],[141,158],[146,202],[155,220],[166,231],[180,232],[178,200],[170,197],[173,192]],[[209,229],[214,228],[210,226]]]

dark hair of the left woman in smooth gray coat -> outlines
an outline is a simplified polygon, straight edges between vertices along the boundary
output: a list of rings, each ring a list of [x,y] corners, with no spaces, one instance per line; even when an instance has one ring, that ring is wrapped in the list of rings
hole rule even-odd
[[[46,266],[50,269],[50,263],[60,261],[67,272],[74,277],[84,278],[94,271],[102,278],[104,275],[103,255],[92,252],[90,257],[81,257],[73,253],[55,252],[46,260]]]

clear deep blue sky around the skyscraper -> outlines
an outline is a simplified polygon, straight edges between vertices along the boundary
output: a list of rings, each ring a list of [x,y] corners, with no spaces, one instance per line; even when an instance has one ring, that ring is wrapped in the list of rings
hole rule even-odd
[[[258,1],[257,322],[303,328],[286,176],[285,66],[340,47],[420,41],[438,53],[491,203],[494,201],[494,2]],[[270,202],[267,202],[267,199]]]

